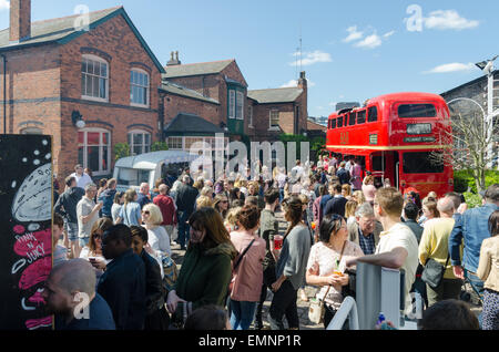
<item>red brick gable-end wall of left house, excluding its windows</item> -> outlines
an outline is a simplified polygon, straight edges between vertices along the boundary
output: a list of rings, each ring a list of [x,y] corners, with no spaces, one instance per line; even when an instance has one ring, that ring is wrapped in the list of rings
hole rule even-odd
[[[92,54],[108,62],[108,103],[82,100],[81,62],[84,54]],[[132,69],[140,69],[150,75],[149,108],[131,106]],[[60,173],[70,173],[78,163],[78,128],[71,122],[71,113],[74,110],[86,121],[85,128],[98,127],[111,133],[111,151],[116,143],[128,143],[128,133],[132,130],[149,132],[152,134],[152,142],[160,141],[157,127],[160,84],[160,71],[121,15],[63,45],[61,48],[63,152],[60,157]],[[112,154],[112,166],[113,162]]]

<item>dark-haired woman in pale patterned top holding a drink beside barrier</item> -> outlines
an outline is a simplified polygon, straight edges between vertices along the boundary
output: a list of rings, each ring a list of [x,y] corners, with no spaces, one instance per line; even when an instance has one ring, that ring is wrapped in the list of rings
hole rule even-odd
[[[342,288],[349,282],[345,273],[346,260],[361,256],[360,247],[348,240],[345,219],[336,214],[326,215],[319,227],[319,242],[310,249],[306,273],[308,284],[320,287],[316,299],[325,302],[325,328],[342,306]]]

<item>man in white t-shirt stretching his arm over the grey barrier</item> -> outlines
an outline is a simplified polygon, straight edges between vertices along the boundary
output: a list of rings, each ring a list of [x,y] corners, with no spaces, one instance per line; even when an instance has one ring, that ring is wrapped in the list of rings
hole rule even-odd
[[[418,268],[418,241],[413,231],[400,222],[404,207],[403,195],[395,188],[380,188],[374,199],[376,219],[381,222],[384,231],[375,255],[347,261],[347,266],[358,261],[391,269],[404,269],[406,290],[406,313],[413,310],[410,289]]]

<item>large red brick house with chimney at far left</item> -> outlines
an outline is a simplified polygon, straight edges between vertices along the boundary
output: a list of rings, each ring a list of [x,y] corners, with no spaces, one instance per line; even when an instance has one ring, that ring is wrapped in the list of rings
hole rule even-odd
[[[122,7],[88,15],[82,30],[81,15],[31,23],[30,1],[12,0],[0,32],[7,133],[52,135],[59,179],[78,163],[109,175],[114,144],[143,153],[161,136],[162,65]]]

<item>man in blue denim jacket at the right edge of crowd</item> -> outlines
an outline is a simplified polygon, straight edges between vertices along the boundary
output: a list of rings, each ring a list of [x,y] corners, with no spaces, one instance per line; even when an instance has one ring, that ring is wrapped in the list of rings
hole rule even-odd
[[[499,184],[491,185],[483,194],[483,206],[468,209],[456,221],[449,236],[450,262],[454,275],[464,279],[465,275],[473,282],[481,293],[483,281],[477,276],[480,248],[483,239],[490,237],[489,217],[499,209]],[[465,250],[460,255],[461,242],[465,242]]]

